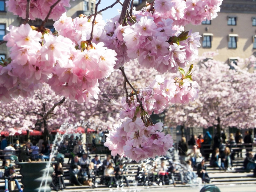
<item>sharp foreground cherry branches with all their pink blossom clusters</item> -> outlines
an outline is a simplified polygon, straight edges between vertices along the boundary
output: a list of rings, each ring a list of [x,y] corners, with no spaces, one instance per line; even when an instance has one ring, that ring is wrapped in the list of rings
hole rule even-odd
[[[133,7],[133,0],[124,0],[120,15],[105,23],[98,13],[111,6],[98,11],[101,0],[93,15],[74,19],[65,14],[69,0],[9,0],[8,10],[24,18],[24,23],[10,26],[4,36],[10,59],[0,67],[0,99],[7,102],[18,96],[31,97],[47,83],[56,95],[88,103],[91,98],[98,99],[99,83],[119,69],[126,93],[120,113],[123,120],[110,132],[105,145],[117,145],[120,150],[113,150],[112,154],[127,154],[137,161],[157,153],[163,155],[173,141],[161,132],[163,125],[154,125],[149,116],[162,112],[169,103],[188,103],[197,97],[192,67],[187,72],[182,68],[198,54],[200,35],[184,31],[184,26],[215,18],[221,2],[155,0],[143,10],[133,10],[129,8]],[[35,18],[42,19],[42,24],[29,26],[28,21]],[[45,28],[50,18],[55,21],[56,33]],[[156,78],[144,90],[137,90],[124,68],[126,62],[136,59],[147,69],[161,74],[180,72],[182,77]],[[122,145],[116,138],[118,131],[126,134]],[[159,147],[161,151],[157,150]]]

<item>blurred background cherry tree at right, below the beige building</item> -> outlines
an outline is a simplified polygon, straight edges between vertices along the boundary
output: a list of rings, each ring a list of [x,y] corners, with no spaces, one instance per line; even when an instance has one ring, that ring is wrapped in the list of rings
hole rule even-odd
[[[184,127],[214,126],[221,128],[254,128],[255,121],[255,72],[249,72],[255,57],[237,65],[209,59],[213,53],[199,57],[194,65],[194,80],[199,83],[198,99],[187,105],[175,104],[168,108],[166,121]],[[246,67],[245,67],[246,66]],[[216,73],[218,71],[218,73]]]

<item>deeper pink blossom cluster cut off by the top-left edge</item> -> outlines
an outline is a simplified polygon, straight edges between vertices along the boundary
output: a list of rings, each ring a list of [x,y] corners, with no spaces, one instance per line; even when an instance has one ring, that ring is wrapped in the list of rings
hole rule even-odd
[[[31,0],[29,6],[29,19],[35,20],[36,18],[44,20],[53,4],[58,0],[45,1],[45,0]],[[27,9],[27,0],[8,0],[5,1],[8,11],[12,12],[14,15],[25,19],[26,18],[26,9]],[[61,0],[53,7],[49,19],[54,21],[58,20],[60,16],[66,12],[65,7],[70,7],[69,0]]]

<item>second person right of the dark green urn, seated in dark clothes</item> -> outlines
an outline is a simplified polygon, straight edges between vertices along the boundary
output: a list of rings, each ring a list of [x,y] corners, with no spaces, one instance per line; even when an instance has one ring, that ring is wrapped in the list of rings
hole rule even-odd
[[[78,178],[80,177],[80,169],[81,169],[81,166],[80,166],[79,158],[75,156],[74,162],[71,163],[69,168],[70,182],[73,185],[82,186],[82,184],[78,181]]]

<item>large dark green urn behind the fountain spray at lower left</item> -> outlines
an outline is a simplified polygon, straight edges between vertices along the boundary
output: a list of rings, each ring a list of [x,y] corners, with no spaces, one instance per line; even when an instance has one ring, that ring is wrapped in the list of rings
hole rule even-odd
[[[54,162],[52,162],[54,163]],[[24,185],[24,192],[49,192],[51,191],[50,184],[52,181],[51,174],[53,168],[50,166],[47,168],[49,162],[20,162],[18,163],[20,168],[20,174],[22,175],[21,183]],[[47,174],[49,169],[48,176]],[[41,185],[42,180],[44,181]],[[45,185],[47,181],[47,184]]]

